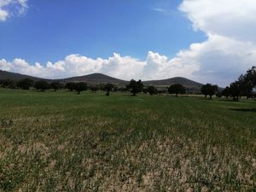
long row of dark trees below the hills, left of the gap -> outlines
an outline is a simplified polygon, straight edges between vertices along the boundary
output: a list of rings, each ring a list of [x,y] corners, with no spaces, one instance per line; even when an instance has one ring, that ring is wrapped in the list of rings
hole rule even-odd
[[[166,90],[158,90],[153,85],[145,87],[142,80],[134,80],[131,79],[130,83],[127,84],[125,87],[118,87],[114,84],[98,84],[98,85],[88,85],[84,82],[67,82],[63,84],[58,81],[53,81],[51,83],[38,80],[33,81],[32,79],[21,79],[20,81],[14,81],[10,79],[0,80],[0,87],[9,88],[9,89],[21,89],[21,90],[30,90],[34,88],[36,90],[62,90],[67,89],[70,91],[76,91],[80,94],[84,90],[91,90],[92,92],[96,92],[98,90],[106,91],[106,96],[110,95],[111,91],[130,91],[132,96],[136,96],[138,93],[145,93],[150,94],[151,96],[156,94],[163,94],[163,93],[170,93],[170,94],[184,94],[186,92],[185,88],[181,84],[172,84]]]

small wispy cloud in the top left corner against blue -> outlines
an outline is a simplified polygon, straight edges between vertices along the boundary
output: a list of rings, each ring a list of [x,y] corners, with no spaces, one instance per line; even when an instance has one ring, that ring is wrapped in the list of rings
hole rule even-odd
[[[24,14],[27,8],[27,0],[0,0],[0,21]]]

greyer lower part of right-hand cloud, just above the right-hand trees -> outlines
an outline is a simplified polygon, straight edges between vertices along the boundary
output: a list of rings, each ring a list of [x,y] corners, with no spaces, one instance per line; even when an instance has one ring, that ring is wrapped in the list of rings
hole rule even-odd
[[[191,44],[190,49],[177,54],[184,63],[199,67],[191,77],[200,82],[225,86],[255,65],[256,47],[218,35],[209,35],[201,44]]]

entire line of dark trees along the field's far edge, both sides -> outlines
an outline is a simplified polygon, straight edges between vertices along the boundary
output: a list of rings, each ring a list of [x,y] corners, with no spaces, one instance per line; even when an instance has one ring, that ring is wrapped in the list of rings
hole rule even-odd
[[[172,84],[167,87],[166,90],[158,90],[153,85],[145,87],[142,80],[134,80],[131,79],[130,83],[125,87],[117,87],[114,84],[99,84],[99,85],[88,85],[84,82],[67,82],[63,84],[58,81],[53,81],[51,83],[38,80],[34,82],[32,79],[21,79],[18,82],[14,80],[5,79],[0,80],[0,87],[9,88],[9,89],[22,89],[29,90],[31,87],[36,90],[61,90],[67,89],[70,91],[76,91],[78,94],[84,90],[91,90],[92,92],[96,92],[97,90],[106,91],[106,96],[110,95],[111,91],[131,91],[132,96],[136,96],[138,93],[150,94],[151,96],[156,94],[169,93],[177,96],[178,94],[185,94],[186,89],[182,84]],[[230,86],[227,86],[224,90],[220,90],[217,84],[204,84],[201,86],[201,94],[204,96],[209,96],[212,99],[212,96],[217,97],[231,97],[234,101],[238,101],[241,96],[246,96],[247,98],[253,98],[253,88],[256,87],[256,67],[252,67],[247,70],[247,73],[241,74],[241,76]]]

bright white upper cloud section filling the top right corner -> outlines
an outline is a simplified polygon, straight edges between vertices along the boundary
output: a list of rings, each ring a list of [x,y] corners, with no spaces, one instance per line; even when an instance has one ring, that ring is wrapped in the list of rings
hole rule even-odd
[[[179,9],[195,29],[256,43],[255,0],[183,0]]]

